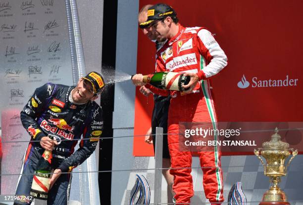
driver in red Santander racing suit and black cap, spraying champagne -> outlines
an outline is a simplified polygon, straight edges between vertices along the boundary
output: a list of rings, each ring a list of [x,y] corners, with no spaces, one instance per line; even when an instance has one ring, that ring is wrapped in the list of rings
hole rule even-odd
[[[209,31],[202,27],[185,28],[178,24],[175,11],[166,4],[149,8],[148,20],[158,39],[166,43],[156,52],[156,71],[184,72],[191,81],[187,95],[146,86],[152,92],[171,96],[168,114],[168,147],[174,176],[173,190],[176,203],[190,203],[194,195],[191,176],[191,152],[179,150],[179,122],[212,122],[216,128],[216,112],[211,97],[208,78],[227,65],[227,57]],[[133,77],[134,84],[142,84],[142,75]],[[223,180],[220,152],[199,152],[203,171],[203,187],[210,203],[223,202]]]

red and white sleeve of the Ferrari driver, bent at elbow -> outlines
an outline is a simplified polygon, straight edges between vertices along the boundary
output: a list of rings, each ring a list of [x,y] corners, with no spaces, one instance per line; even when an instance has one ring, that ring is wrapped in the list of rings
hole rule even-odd
[[[208,63],[198,72],[199,80],[209,78],[220,72],[227,65],[227,57],[219,44],[206,29],[198,32],[198,47]]]

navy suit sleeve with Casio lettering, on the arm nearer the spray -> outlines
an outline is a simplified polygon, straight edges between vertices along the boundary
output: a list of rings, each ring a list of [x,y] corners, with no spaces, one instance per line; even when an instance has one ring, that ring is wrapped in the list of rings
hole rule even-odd
[[[83,139],[80,142],[79,149],[58,167],[62,172],[70,172],[74,167],[82,164],[95,151],[103,130],[102,109],[97,103],[91,119],[91,122],[84,128]]]

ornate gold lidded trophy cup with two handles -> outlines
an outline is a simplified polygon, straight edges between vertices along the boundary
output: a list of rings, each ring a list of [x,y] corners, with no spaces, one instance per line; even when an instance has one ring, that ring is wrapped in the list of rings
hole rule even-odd
[[[278,134],[276,127],[275,133],[271,136],[269,142],[264,142],[262,148],[254,150],[254,154],[260,159],[264,167],[264,175],[270,178],[272,186],[267,190],[259,205],[289,205],[285,193],[280,189],[279,183],[281,176],[285,176],[290,162],[298,154],[298,150],[290,149],[289,144],[281,141],[281,136]],[[266,159],[266,164],[260,157],[261,154]],[[287,165],[284,165],[285,160],[289,155],[292,157]]]

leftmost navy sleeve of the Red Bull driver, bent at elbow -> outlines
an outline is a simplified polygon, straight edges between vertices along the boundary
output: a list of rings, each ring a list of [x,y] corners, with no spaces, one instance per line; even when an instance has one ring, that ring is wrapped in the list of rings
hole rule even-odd
[[[54,92],[54,87],[54,84],[47,83],[37,88],[20,113],[22,125],[29,132],[33,140],[41,140],[45,136],[36,118],[40,117],[47,106],[48,98]]]

